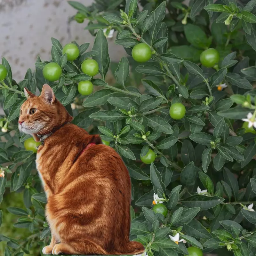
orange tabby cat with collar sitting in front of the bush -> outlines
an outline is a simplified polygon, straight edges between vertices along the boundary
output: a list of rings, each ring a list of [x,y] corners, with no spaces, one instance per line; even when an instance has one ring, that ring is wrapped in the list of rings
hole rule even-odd
[[[143,245],[129,239],[131,180],[122,158],[99,135],[70,124],[49,85],[39,97],[24,92],[19,129],[42,141],[36,167],[52,233],[43,253],[142,253]]]

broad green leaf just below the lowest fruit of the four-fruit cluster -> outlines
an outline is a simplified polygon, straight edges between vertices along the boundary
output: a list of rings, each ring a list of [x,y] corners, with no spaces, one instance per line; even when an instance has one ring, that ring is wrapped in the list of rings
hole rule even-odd
[[[108,99],[111,99],[112,96],[116,95],[116,92],[113,92],[110,89],[102,89],[90,94],[83,102],[85,108],[95,107],[98,105],[103,105],[108,102]]]

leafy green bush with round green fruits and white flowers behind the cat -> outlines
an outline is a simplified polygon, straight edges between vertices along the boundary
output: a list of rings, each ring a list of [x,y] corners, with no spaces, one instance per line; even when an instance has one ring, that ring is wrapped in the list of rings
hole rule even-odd
[[[255,255],[256,1],[69,4],[71,20],[89,20],[91,51],[52,38],[52,60],[38,57],[20,82],[5,58],[0,65],[0,224],[12,214],[28,234],[1,229],[1,255],[43,255],[50,243],[39,144],[17,125],[24,87],[38,95],[45,83],[73,124],[122,156],[132,180],[130,239],[144,256]],[[127,52],[119,63],[108,54],[112,29]],[[3,208],[9,193],[23,206]]]

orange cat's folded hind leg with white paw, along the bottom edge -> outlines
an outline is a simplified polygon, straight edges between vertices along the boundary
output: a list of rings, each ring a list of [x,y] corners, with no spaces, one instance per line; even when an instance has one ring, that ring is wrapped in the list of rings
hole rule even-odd
[[[100,245],[89,240],[72,241],[68,244],[55,244],[52,254],[108,254]]]

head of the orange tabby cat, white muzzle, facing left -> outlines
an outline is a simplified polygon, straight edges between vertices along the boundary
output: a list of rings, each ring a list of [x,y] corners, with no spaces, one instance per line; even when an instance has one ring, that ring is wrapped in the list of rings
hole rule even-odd
[[[27,100],[20,108],[19,130],[27,134],[45,135],[72,121],[66,108],[55,98],[52,88],[43,85],[40,96],[24,88]]]

